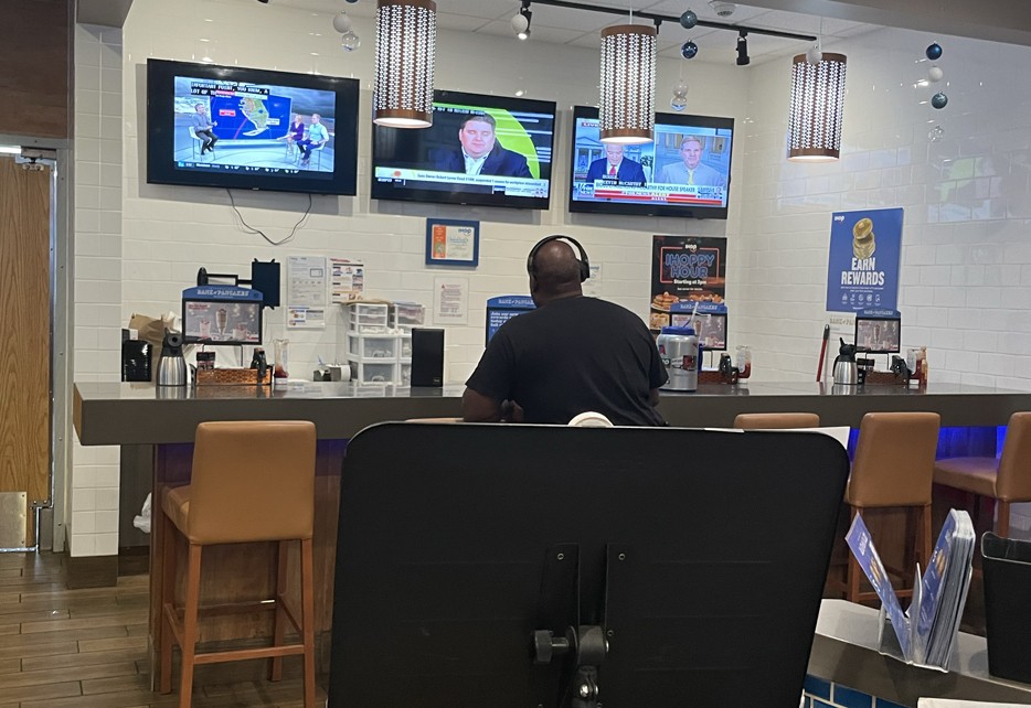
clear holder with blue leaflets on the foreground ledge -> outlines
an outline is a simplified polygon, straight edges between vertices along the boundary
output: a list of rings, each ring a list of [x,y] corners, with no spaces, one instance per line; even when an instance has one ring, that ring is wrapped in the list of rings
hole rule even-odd
[[[846,540],[881,598],[878,652],[905,664],[947,673],[958,647],[959,620],[972,575],[975,535],[969,514],[949,512],[923,577],[920,565],[916,567],[913,601],[906,612],[899,604],[861,515],[855,515]]]

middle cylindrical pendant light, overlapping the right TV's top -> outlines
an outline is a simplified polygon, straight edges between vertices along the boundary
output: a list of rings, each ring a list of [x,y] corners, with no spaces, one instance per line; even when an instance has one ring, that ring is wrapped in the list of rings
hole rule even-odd
[[[652,141],[656,34],[640,24],[602,30],[602,142]]]

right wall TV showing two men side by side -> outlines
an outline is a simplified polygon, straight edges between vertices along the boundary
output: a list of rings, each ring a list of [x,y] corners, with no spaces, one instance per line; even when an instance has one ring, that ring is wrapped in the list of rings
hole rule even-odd
[[[598,109],[573,108],[570,211],[726,218],[734,119],[656,114],[655,142],[605,143]]]

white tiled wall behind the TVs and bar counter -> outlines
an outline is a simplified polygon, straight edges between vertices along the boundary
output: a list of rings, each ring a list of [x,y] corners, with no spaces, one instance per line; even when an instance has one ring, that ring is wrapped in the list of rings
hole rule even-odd
[[[1031,389],[1031,111],[1017,88],[1031,49],[893,29],[827,45],[848,55],[849,77],[843,159],[826,165],[785,159],[788,58],[748,68],[698,60],[682,68],[682,62],[662,61],[660,110],[683,71],[688,112],[735,117],[734,183],[725,222],[646,219],[574,215],[565,207],[570,108],[597,100],[597,51],[447,31],[438,39],[438,88],[499,95],[523,89],[557,101],[552,208],[371,200],[373,28],[355,19],[363,46],[344,53],[331,18],[243,0],[136,0],[124,34],[76,28],[76,380],[116,380],[118,329],[135,312],[178,311],[180,291],[194,282],[200,266],[245,277],[254,258],[359,258],[368,265],[371,296],[432,305],[433,276],[440,271],[424,266],[427,216],[481,222],[479,267],[451,271],[469,277],[470,293],[469,324],[447,331],[448,380],[464,380],[479,358],[486,299],[525,292],[525,254],[552,233],[583,243],[602,266],[600,294],[642,317],[652,234],[725,235],[731,346],[752,346],[757,379],[806,380],[816,368],[826,317],[830,212],[902,206],[903,345],[929,347],[934,380]],[[934,39],[945,49],[939,64],[946,73],[935,88],[949,95],[940,111],[926,103],[931,89],[914,87],[928,64],[918,60]],[[242,230],[224,191],[147,184],[140,137],[149,57],[359,78],[358,196],[313,197],[305,226],[277,248]],[[945,133],[932,142],[936,124]],[[247,222],[273,239],[286,236],[308,205],[300,194],[234,196]],[[267,321],[267,340],[290,339],[296,375],[310,372],[319,356],[337,354],[339,311],[330,313],[325,331],[287,332],[281,308]],[[89,481],[92,470],[97,484],[115,482],[96,490],[117,489],[117,460],[82,462],[82,448],[74,452],[76,480],[85,473]],[[73,482],[75,489],[83,484]],[[88,523],[76,513],[98,511],[73,506],[73,524]],[[109,534],[83,533],[73,554],[106,553]],[[76,535],[73,526],[73,541]]]

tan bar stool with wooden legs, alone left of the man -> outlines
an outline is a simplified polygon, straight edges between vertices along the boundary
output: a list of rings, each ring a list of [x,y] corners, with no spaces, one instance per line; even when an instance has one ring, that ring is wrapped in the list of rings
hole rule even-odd
[[[315,706],[315,593],[311,537],[315,528],[315,423],[288,421],[202,422],[196,427],[190,484],[166,490],[164,566],[161,587],[162,694],[170,693],[172,641],[182,651],[179,705],[191,705],[198,664],[272,658],[269,678],[283,675],[283,657],[304,656],[305,708]],[[190,547],[185,607],[176,608],[176,534]],[[286,545],[300,541],[300,621],[283,600],[287,587]],[[278,541],[276,591],[272,601],[200,608],[201,551],[215,544]],[[203,610],[274,610],[273,645],[223,652],[196,652],[198,614]],[[284,644],[285,620],[300,641]]]

